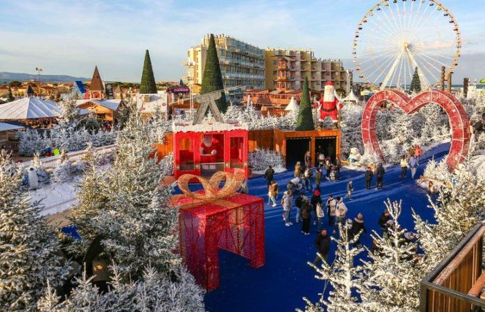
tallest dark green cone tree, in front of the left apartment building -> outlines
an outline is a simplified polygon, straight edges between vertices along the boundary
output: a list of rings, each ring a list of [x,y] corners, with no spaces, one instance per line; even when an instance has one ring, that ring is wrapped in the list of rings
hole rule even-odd
[[[214,35],[211,34],[200,94],[206,94],[221,89],[224,89],[224,84],[222,83],[222,73],[220,73],[218,51],[215,49]],[[215,101],[215,103],[218,105],[220,112],[226,112],[227,101],[224,92],[222,92],[222,96]]]

